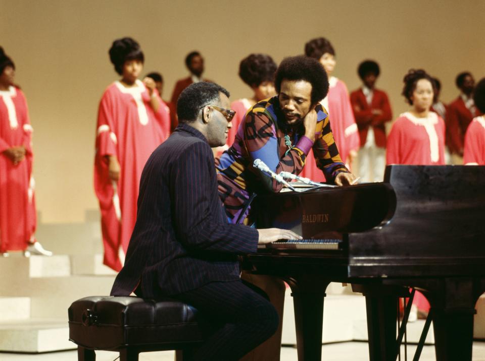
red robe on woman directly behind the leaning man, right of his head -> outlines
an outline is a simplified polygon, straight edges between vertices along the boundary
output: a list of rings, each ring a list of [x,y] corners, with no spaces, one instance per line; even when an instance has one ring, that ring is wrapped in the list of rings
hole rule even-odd
[[[335,77],[331,77],[329,79],[328,95],[320,103],[328,110],[330,127],[338,152],[343,162],[347,163],[349,153],[351,151],[357,152],[359,149],[360,140],[349,99],[349,92],[345,83]],[[318,169],[315,163],[313,150],[308,153],[300,176],[310,178],[315,180],[315,182],[325,182],[323,172]]]

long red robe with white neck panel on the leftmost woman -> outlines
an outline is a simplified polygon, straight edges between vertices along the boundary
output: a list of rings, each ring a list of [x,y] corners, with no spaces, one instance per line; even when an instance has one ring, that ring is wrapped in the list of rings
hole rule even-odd
[[[4,153],[23,145],[25,158],[14,165]],[[0,91],[0,253],[24,251],[37,223],[32,178],[32,127],[25,96],[13,86]]]

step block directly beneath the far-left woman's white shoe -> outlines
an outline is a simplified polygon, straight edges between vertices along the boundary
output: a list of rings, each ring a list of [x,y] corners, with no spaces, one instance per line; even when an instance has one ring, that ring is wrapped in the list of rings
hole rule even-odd
[[[0,258],[0,275],[2,278],[14,279],[17,282],[29,278],[68,277],[71,275],[69,256],[31,256],[12,254]]]

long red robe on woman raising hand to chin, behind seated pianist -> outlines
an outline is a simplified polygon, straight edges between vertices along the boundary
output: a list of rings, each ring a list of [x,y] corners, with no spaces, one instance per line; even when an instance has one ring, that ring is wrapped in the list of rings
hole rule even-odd
[[[94,190],[101,208],[104,264],[116,271],[122,267],[119,249],[126,253],[136,221],[141,171],[150,154],[170,133],[168,107],[156,94],[161,102],[157,113],[150,106],[148,90],[139,80],[133,88],[125,88],[118,81],[113,83],[100,102]],[[115,155],[120,163],[117,183],[109,177],[108,155]]]

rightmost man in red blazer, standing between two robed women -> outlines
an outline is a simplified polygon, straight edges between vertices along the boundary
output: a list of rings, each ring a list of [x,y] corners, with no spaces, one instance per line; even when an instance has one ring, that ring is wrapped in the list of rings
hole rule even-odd
[[[475,116],[480,115],[473,102],[475,80],[469,72],[456,77],[460,95],[448,105],[446,112],[446,132],[453,164],[463,164],[463,142],[466,129]]]

